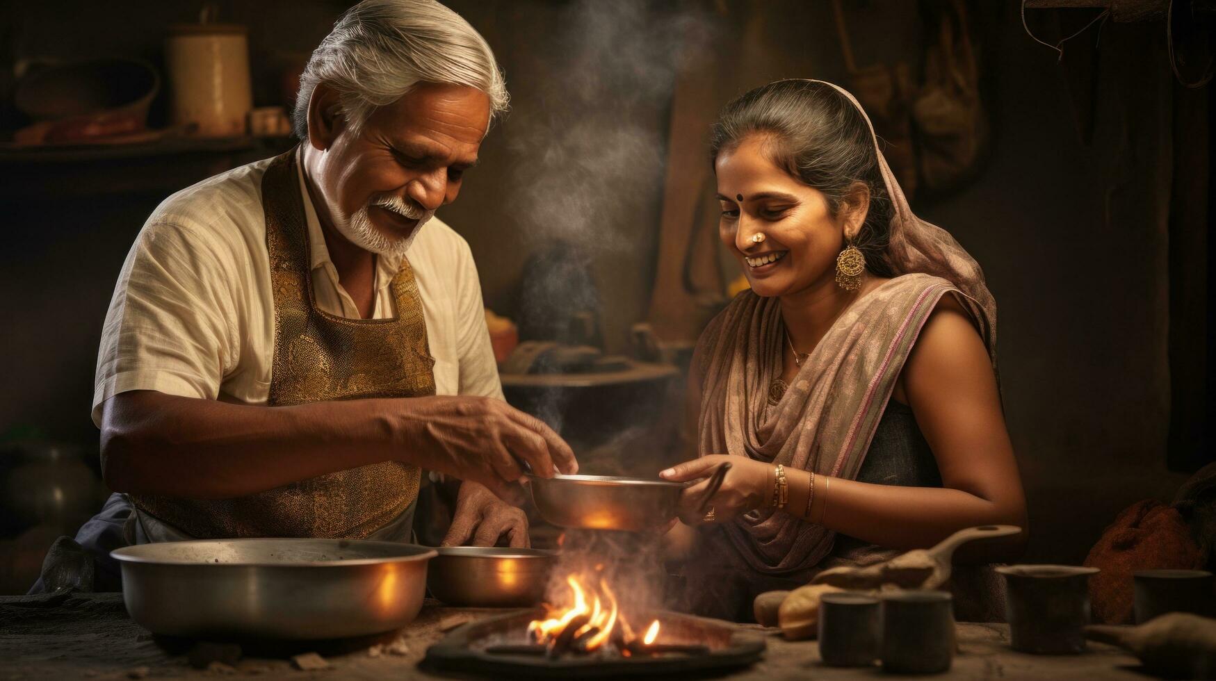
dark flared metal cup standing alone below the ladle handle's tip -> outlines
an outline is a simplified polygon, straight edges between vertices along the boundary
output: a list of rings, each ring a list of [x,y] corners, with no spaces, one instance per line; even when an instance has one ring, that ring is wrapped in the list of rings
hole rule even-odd
[[[1098,568],[1007,565],[1006,615],[1014,651],[1070,654],[1085,651],[1090,624],[1090,575]]]

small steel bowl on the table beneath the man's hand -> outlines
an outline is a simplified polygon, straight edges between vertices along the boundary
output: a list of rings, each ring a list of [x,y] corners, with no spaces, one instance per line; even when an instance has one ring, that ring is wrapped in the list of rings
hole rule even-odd
[[[557,561],[539,548],[445,546],[427,570],[430,595],[449,606],[524,608],[545,597]]]

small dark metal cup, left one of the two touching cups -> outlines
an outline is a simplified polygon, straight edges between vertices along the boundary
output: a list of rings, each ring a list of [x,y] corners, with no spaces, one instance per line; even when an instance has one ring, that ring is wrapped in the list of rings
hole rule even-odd
[[[829,666],[869,666],[878,659],[878,598],[833,592],[820,598],[820,657]]]

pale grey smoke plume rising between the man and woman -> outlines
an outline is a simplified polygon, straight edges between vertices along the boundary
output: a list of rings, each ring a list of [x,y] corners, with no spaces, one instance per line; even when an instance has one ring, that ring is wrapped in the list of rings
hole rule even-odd
[[[641,0],[564,5],[529,81],[511,79],[506,208],[524,220],[531,264],[520,282],[520,339],[557,339],[591,313],[609,348],[637,321],[653,270],[671,97],[683,54],[709,49],[709,7]],[[638,270],[642,270],[641,272]],[[643,292],[644,293],[644,292]],[[614,328],[603,328],[604,320]],[[619,349],[619,348],[618,348]],[[548,393],[535,413],[558,432]]]

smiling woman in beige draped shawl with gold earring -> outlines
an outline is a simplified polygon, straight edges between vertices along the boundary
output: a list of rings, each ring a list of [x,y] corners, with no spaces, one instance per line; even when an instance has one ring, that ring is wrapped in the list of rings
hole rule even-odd
[[[748,619],[751,598],[985,524],[1025,528],[996,383],[996,305],[975,261],[917,219],[857,102],[782,80],[727,105],[713,134],[719,233],[744,291],[689,376],[703,478],[732,463],[699,527],[688,607]],[[984,556],[1020,551],[1025,533]],[[959,597],[985,617],[992,593]]]

